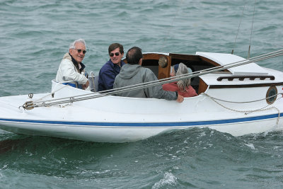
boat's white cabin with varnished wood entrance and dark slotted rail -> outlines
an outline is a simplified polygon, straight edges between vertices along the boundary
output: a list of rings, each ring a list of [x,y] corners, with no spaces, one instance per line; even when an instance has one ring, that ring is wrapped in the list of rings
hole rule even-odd
[[[126,59],[123,61],[127,63]],[[169,79],[171,67],[180,62],[188,67],[189,73],[198,71],[199,74],[191,79],[197,94],[204,93],[207,88],[277,85],[275,77],[279,74],[276,71],[270,73],[243,57],[212,52],[196,52],[196,55],[147,52],[143,54],[142,67],[151,69],[158,79]]]

